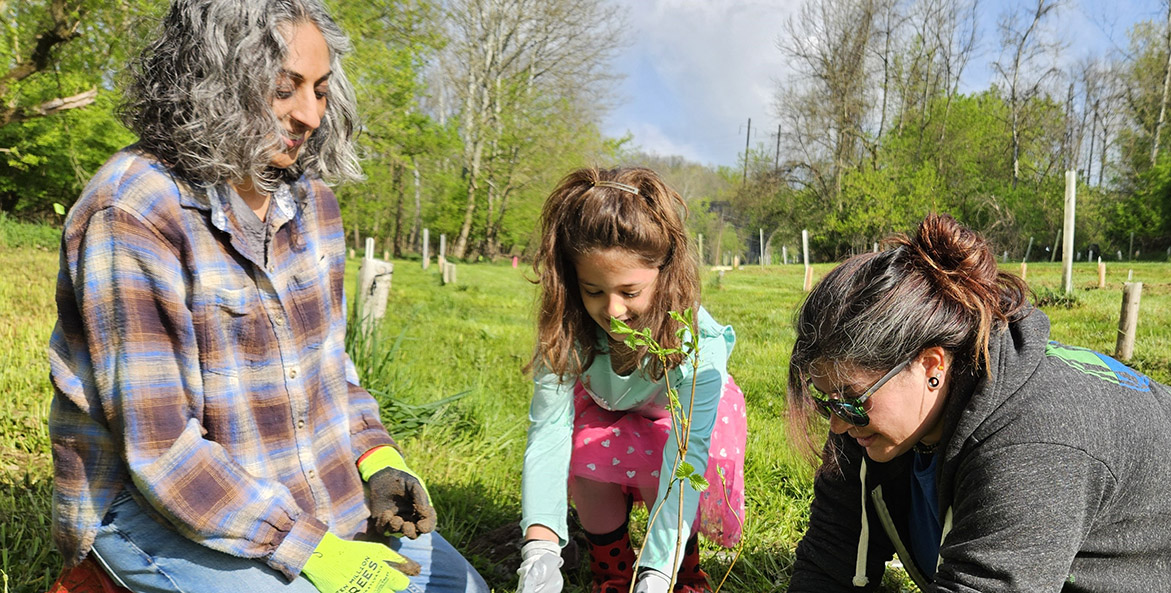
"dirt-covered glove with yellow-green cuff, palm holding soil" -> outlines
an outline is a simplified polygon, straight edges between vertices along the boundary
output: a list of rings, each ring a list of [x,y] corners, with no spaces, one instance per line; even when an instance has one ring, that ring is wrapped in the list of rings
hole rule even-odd
[[[358,473],[370,484],[370,514],[378,531],[415,539],[436,529],[427,486],[397,449],[382,445],[367,451],[358,459]]]

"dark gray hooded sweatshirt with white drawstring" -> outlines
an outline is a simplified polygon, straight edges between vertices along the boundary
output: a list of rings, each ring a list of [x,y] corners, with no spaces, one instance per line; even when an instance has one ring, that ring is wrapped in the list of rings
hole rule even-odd
[[[924,592],[1171,591],[1171,390],[1049,341],[1030,309],[992,338],[991,374],[953,386],[936,455],[934,579],[911,558],[913,454],[830,435],[790,592],[874,591],[898,553]]]

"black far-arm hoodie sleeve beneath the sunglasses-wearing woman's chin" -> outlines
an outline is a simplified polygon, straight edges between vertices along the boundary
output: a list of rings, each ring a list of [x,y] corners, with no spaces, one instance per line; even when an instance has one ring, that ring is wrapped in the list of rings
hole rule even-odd
[[[876,591],[886,560],[895,554],[870,497],[863,498],[863,471],[870,471],[877,464],[865,459],[862,449],[840,435],[830,435],[826,447],[837,449],[840,470],[823,469],[814,478],[809,527],[797,544],[788,591]],[[864,566],[862,574],[860,561]]]

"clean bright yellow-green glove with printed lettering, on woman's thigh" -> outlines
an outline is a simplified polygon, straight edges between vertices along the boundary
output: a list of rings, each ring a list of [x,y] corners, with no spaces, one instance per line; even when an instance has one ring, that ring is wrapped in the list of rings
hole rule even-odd
[[[389,593],[411,584],[418,563],[372,541],[349,541],[326,533],[301,575],[321,593]]]

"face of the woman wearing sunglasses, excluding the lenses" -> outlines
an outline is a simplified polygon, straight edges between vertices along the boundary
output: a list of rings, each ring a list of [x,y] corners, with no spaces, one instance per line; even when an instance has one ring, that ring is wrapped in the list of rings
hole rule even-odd
[[[855,427],[834,414],[829,429],[847,434],[876,462],[889,462],[909,451],[916,443],[934,444],[943,436],[943,410],[947,396],[945,367],[950,355],[941,348],[927,348],[905,369],[891,377],[865,401],[870,416],[865,427]],[[849,364],[822,362],[813,367],[813,383],[823,394],[844,398],[858,397],[888,369],[861,370]],[[938,377],[937,387],[929,380]]]

